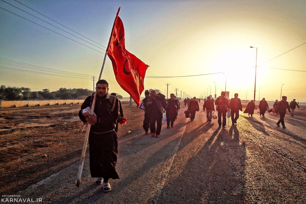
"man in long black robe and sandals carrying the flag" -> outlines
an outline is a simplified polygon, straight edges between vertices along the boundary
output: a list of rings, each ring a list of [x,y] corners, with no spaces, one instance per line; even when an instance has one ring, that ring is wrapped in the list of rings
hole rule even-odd
[[[119,179],[116,172],[118,157],[118,138],[115,132],[119,117],[119,100],[108,93],[108,82],[99,80],[96,83],[95,115],[82,114],[82,110],[90,108],[94,95],[88,96],[79,112],[80,120],[91,124],[89,132],[89,166],[91,177],[98,177],[96,184],[102,184],[103,191],[110,191],[108,180]],[[95,94],[95,93],[94,93]]]

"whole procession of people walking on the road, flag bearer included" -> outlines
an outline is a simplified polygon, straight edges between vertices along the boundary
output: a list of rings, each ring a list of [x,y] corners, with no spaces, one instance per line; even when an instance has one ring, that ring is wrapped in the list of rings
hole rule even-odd
[[[103,184],[103,191],[107,192],[111,190],[109,179],[119,179],[116,172],[116,163],[118,157],[118,123],[124,119],[123,109],[121,102],[118,100],[116,93],[109,94],[109,84],[106,80],[99,80],[96,83],[95,93],[88,96],[81,106],[79,117],[84,124],[91,124],[89,132],[89,166],[91,177],[96,177],[95,184]],[[94,97],[96,99],[94,102]],[[215,104],[214,104],[215,103]],[[91,115],[91,106],[95,104],[94,114]],[[199,103],[196,97],[192,100],[185,98],[185,106],[188,105],[187,111],[190,113],[190,120],[194,121],[195,114],[199,111]],[[225,97],[225,92],[221,93],[221,96],[214,101],[210,97],[204,100],[203,110],[206,109],[207,122],[211,122],[212,115],[216,110],[218,112],[218,124],[219,127],[225,128],[226,125],[226,113],[231,111],[232,125],[237,124],[239,118],[239,111],[242,111],[241,100],[238,98],[238,94],[234,95],[229,101]],[[282,96],[280,102],[276,101],[273,108],[274,113],[278,113],[280,116],[277,126],[282,124],[285,127],[284,117],[286,109],[293,115],[294,109],[299,105],[293,99],[289,103],[287,97]],[[180,109],[180,102],[176,99],[174,94],[170,94],[170,98],[166,99],[165,95],[156,93],[155,90],[145,91],[145,98],[142,100],[142,106],[144,107],[144,122],[143,128],[145,134],[148,134],[149,128],[152,137],[159,137],[162,127],[163,114],[166,113],[167,128],[173,128],[174,121],[177,119],[177,113]],[[260,116],[264,117],[265,111],[269,108],[265,98],[259,102]],[[249,115],[254,114],[255,104],[252,100],[248,103],[244,113]],[[126,118],[125,118],[126,119]],[[155,123],[157,126],[155,126]]]

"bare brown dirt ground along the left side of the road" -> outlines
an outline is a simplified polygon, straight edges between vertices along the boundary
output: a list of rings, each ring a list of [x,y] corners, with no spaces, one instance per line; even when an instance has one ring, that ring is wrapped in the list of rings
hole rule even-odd
[[[119,138],[142,128],[144,117],[135,103],[122,106],[128,120],[119,125]],[[5,184],[0,194],[13,195],[80,159],[85,132],[79,110],[80,104],[0,109],[0,180]]]

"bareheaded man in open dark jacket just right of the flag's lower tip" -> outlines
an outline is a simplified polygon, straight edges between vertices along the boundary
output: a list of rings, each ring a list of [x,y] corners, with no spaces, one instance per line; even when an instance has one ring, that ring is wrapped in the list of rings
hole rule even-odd
[[[165,100],[165,95],[158,93],[156,94],[155,90],[152,90],[151,98],[148,98],[148,113],[150,115],[150,131],[152,137],[159,137],[160,131],[162,129],[162,114],[165,113],[165,109],[162,106],[163,101]],[[166,108],[166,107],[165,107]],[[155,122],[157,127],[155,128]]]

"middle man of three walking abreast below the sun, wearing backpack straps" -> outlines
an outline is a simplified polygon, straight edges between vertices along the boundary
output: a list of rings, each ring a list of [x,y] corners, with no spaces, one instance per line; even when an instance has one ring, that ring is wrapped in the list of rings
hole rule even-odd
[[[221,117],[222,117],[222,128],[225,128],[226,126],[226,113],[229,110],[228,107],[228,100],[225,98],[225,92],[221,93],[221,96],[219,96],[216,101],[215,105],[217,106],[218,111],[218,124],[219,127],[221,127]]]

